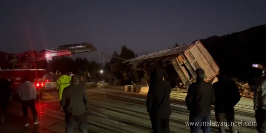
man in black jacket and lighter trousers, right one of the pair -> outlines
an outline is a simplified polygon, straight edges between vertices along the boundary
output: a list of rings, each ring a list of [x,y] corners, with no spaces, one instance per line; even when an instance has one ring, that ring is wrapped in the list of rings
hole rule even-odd
[[[234,106],[240,100],[240,93],[235,82],[230,77],[220,72],[218,82],[214,83],[215,90],[215,117],[217,122],[235,122]],[[230,124],[231,133],[237,133],[235,127]],[[219,133],[225,133],[225,127],[219,125]]]

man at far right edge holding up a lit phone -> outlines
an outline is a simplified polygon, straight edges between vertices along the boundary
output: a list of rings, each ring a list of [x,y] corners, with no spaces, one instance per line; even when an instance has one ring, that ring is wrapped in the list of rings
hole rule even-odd
[[[257,130],[259,133],[266,133],[266,76],[265,67],[259,65],[262,69],[262,76],[255,84],[254,90],[254,110],[257,123]]]

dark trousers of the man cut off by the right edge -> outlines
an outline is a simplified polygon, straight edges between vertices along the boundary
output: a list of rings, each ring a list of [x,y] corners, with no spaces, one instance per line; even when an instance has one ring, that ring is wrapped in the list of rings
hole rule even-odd
[[[258,108],[255,111],[257,130],[259,133],[266,133],[266,110]]]

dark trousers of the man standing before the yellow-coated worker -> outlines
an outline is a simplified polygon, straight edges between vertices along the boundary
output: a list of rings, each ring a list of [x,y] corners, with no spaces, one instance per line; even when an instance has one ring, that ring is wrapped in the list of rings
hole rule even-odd
[[[66,133],[73,133],[75,121],[78,124],[81,133],[87,133],[87,114],[83,113],[81,115],[73,116],[72,114],[65,114],[66,120]]]

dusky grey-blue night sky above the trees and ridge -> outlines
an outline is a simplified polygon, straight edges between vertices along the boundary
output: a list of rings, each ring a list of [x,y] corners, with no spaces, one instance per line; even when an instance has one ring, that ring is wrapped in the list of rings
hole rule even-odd
[[[143,55],[266,24],[265,7],[266,0],[0,0],[0,51],[90,42],[109,55],[124,44]],[[77,56],[99,61],[97,53]]]

